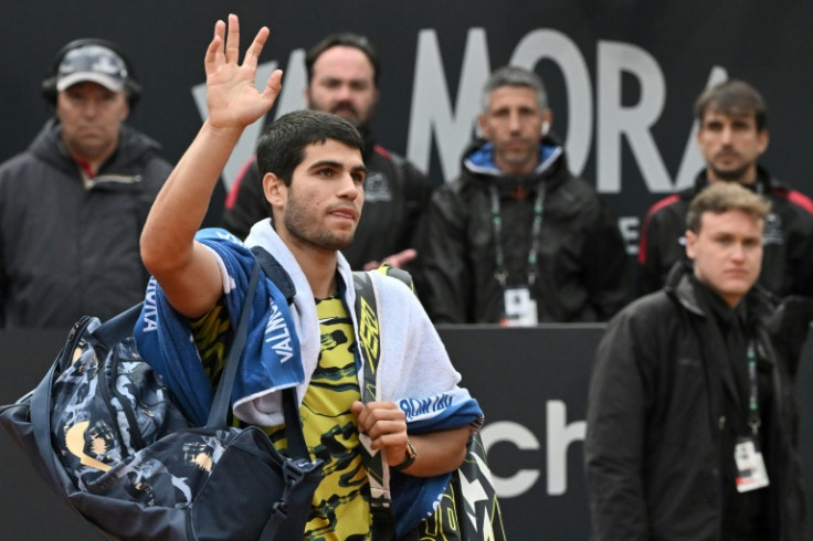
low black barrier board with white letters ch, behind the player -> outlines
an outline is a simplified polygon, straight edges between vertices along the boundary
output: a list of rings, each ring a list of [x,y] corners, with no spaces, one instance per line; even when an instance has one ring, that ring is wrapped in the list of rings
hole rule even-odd
[[[486,413],[483,442],[511,540],[585,540],[590,520],[583,482],[590,364],[603,327],[441,327],[452,361]],[[50,368],[65,332],[0,331],[0,404],[33,389]],[[813,456],[813,340],[803,353],[798,389],[802,457]],[[39,479],[0,433],[3,539],[80,541],[94,530]],[[813,464],[805,464],[813,487]],[[813,492],[809,490],[809,498]],[[813,507],[809,506],[811,509]]]

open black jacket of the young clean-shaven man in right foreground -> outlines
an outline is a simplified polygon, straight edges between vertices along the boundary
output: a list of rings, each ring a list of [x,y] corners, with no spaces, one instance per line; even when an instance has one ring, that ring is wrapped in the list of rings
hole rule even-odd
[[[676,265],[663,290],[613,318],[596,350],[584,442],[596,540],[721,541],[720,453],[733,456],[732,448],[720,448],[721,393],[736,383],[690,273]],[[772,384],[766,414],[771,540],[796,541],[804,496],[790,375],[795,357],[773,348],[778,312],[771,298],[754,288],[746,303]],[[799,317],[785,321],[809,325]],[[798,356],[801,343],[785,354]]]

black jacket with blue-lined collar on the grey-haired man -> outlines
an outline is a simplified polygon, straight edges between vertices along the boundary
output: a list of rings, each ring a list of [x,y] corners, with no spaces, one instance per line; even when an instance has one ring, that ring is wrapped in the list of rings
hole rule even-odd
[[[495,278],[490,187],[497,187],[507,285],[528,283],[531,224],[545,190],[537,278],[532,293],[542,321],[602,321],[629,300],[627,263],[617,224],[595,190],[568,170],[563,149],[542,141],[546,159],[524,177],[478,163],[483,141],[465,155],[461,177],[435,190],[427,215],[422,297],[435,323],[495,323],[504,295]],[[474,161],[473,161],[474,160]]]

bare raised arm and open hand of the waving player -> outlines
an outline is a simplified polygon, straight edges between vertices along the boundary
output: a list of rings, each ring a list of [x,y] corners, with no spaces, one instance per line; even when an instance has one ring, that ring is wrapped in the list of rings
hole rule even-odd
[[[141,233],[141,258],[170,304],[188,317],[209,311],[223,291],[217,262],[194,241],[221,171],[243,129],[265,115],[282,89],[274,71],[257,92],[254,76],[268,29],[263,26],[240,60],[240,23],[218,21],[205,54],[209,119],[156,198]]]

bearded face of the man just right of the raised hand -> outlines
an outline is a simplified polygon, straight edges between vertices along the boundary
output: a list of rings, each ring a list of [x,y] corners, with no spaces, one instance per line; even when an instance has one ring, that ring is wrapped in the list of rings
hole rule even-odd
[[[332,113],[366,128],[378,103],[373,77],[372,64],[360,50],[330,47],[314,62],[310,86],[305,89],[308,108]]]

